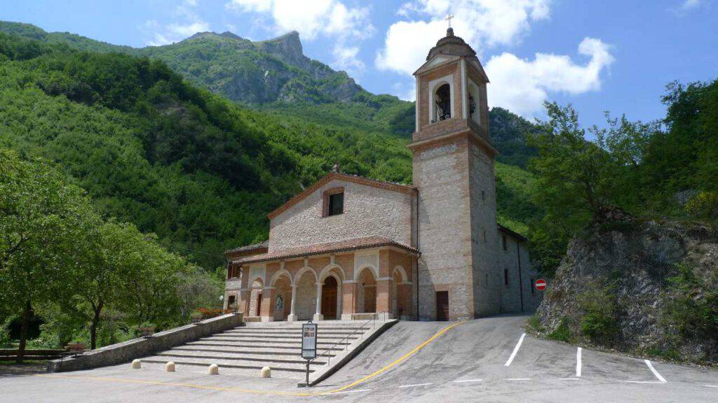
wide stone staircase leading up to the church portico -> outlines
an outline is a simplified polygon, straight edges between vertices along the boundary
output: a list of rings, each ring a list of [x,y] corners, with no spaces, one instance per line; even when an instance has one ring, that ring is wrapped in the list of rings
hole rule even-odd
[[[312,361],[310,373],[325,369],[327,361],[335,364],[338,360],[332,358],[345,354],[345,350],[374,330],[372,323],[365,321],[320,321],[317,354],[323,355]],[[251,376],[258,376],[262,367],[269,366],[273,377],[304,379],[307,361],[300,356],[301,351],[302,323],[253,322],[161,351],[142,362],[151,367],[172,361],[177,364],[177,371],[195,372],[217,364],[220,373]]]

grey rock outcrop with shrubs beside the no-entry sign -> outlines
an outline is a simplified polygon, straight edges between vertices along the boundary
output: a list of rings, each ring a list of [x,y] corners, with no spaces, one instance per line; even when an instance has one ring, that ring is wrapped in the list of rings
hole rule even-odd
[[[605,223],[570,243],[538,308],[537,330],[718,363],[718,333],[710,335],[718,325],[717,279],[718,237],[710,227]]]

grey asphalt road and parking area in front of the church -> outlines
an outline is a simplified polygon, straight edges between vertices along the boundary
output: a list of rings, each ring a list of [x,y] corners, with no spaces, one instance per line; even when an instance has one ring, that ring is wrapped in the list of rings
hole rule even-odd
[[[0,402],[718,402],[718,370],[579,352],[575,346],[523,336],[525,320],[462,323],[409,356],[447,323],[398,323],[310,391],[288,379],[123,365],[0,376]],[[366,376],[371,377],[360,381]]]

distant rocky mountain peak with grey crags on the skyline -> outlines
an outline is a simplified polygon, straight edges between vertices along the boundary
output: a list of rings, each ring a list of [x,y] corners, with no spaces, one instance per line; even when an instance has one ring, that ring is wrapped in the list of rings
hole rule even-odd
[[[297,32],[252,42],[231,32],[198,32],[181,42],[135,49],[230,100],[348,102],[362,88],[345,72],[304,55]]]

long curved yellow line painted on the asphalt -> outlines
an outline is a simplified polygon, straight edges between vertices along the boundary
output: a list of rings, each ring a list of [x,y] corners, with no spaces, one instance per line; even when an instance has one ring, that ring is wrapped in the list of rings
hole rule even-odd
[[[419,346],[414,347],[414,349],[411,349],[411,351],[409,351],[408,353],[399,357],[398,359],[394,360],[391,364],[388,364],[387,366],[384,366],[382,369],[378,369],[377,371],[374,371],[373,373],[371,373],[367,376],[364,376],[362,379],[359,379],[358,381],[354,381],[344,387],[340,387],[339,389],[333,389],[333,390],[330,390],[327,392],[312,392],[312,393],[282,392],[279,390],[257,390],[257,389],[241,389],[241,388],[228,388],[228,387],[212,387],[212,386],[198,385],[198,384],[180,384],[180,383],[176,383],[176,382],[162,382],[162,381],[142,381],[139,379],[103,378],[103,377],[99,377],[99,376],[74,376],[74,375],[55,375],[55,374],[52,374],[52,375],[36,374],[35,376],[43,376],[45,378],[89,379],[89,380],[93,380],[93,381],[113,381],[113,382],[130,383],[130,384],[163,385],[163,386],[169,386],[169,387],[189,387],[189,388],[195,388],[195,389],[210,389],[210,390],[219,390],[219,391],[226,391],[226,392],[243,392],[243,393],[251,393],[251,394],[272,394],[272,395],[292,396],[292,397],[312,397],[312,396],[319,396],[319,395],[342,392],[351,387],[355,387],[358,384],[361,384],[362,382],[368,381],[368,379],[371,379],[374,376],[382,374],[383,372],[386,372],[389,369],[393,368],[394,366],[400,364],[401,361],[404,361],[404,360],[408,359],[410,356],[416,354],[417,351],[423,349],[427,344],[434,341],[437,337],[441,336],[442,334],[449,331],[451,328],[459,326],[460,324],[462,324],[464,322],[465,321],[452,323],[451,325],[446,326],[445,328],[442,328],[442,330],[438,331],[436,334],[434,334],[434,336],[427,338],[426,341],[419,344]]]

